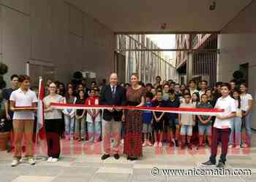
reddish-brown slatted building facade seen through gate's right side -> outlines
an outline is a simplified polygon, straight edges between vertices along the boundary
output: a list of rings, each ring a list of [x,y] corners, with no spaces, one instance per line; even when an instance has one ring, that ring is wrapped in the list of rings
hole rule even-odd
[[[212,86],[217,82],[217,34],[176,35],[176,67],[179,80],[197,82],[206,80]]]

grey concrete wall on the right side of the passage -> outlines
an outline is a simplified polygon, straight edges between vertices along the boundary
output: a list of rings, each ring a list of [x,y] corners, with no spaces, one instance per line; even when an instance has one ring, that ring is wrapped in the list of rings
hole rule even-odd
[[[219,36],[219,80],[228,82],[234,71],[249,63],[249,92],[256,100],[256,1],[225,26]],[[256,105],[252,112],[252,127],[256,129]]]

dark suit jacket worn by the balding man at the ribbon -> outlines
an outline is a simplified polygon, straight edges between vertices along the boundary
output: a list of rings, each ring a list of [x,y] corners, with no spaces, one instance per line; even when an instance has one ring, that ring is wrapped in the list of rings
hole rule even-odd
[[[102,93],[100,95],[99,100],[100,105],[108,105],[108,106],[125,106],[126,105],[126,91],[124,87],[120,85],[116,86],[115,97],[112,96],[112,90],[110,85],[107,85],[102,88]],[[121,121],[122,111],[113,111],[110,112],[108,110],[104,110],[103,119],[105,121],[110,121],[114,119],[116,122]]]

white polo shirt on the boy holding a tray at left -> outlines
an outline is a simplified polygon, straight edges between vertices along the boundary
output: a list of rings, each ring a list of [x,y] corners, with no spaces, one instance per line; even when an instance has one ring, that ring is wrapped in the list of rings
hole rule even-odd
[[[37,95],[35,92],[28,90],[26,93],[20,88],[12,92],[10,101],[15,101],[15,107],[33,106],[32,103],[37,103]],[[29,119],[34,120],[33,111],[15,111],[13,119]]]

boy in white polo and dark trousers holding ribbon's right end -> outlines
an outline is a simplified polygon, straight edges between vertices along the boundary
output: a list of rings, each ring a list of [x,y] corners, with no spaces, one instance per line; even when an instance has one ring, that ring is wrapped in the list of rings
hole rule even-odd
[[[217,100],[215,108],[224,109],[224,112],[216,116],[213,133],[211,135],[211,157],[202,165],[216,165],[218,141],[221,141],[222,154],[217,167],[225,167],[231,122],[233,122],[233,117],[236,116],[236,102],[230,97],[230,90],[230,84],[222,84],[222,97]]]

